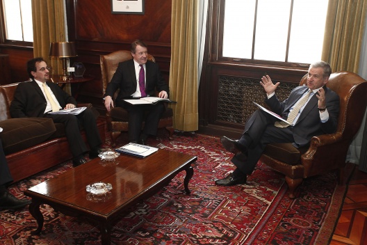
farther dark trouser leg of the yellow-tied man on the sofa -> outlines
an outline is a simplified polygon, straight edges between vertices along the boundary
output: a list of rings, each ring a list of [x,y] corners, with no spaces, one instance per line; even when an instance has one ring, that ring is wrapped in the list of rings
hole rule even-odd
[[[97,128],[95,115],[93,114],[92,110],[87,108],[76,117],[78,118],[81,125],[83,125],[90,150],[97,150],[97,148],[101,146],[102,141]]]

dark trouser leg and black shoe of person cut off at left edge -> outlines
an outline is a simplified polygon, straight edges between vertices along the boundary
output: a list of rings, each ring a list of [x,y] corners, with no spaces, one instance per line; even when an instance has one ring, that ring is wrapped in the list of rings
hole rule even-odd
[[[6,188],[6,184],[10,182],[13,182],[13,178],[10,175],[3,145],[0,141],[0,210],[16,210],[31,203],[30,200],[19,200],[10,194]]]

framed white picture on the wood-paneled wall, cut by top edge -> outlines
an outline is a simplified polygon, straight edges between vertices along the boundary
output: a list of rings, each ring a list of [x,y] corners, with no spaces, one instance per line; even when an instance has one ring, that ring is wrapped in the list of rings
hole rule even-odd
[[[145,0],[111,0],[113,14],[144,15]]]

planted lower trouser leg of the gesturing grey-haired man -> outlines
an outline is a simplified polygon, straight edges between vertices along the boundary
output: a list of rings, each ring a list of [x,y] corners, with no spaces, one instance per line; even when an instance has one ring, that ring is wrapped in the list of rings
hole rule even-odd
[[[240,154],[234,156],[231,161],[244,175],[250,175],[252,171],[254,171],[268,143],[290,143],[293,141],[293,132],[291,128],[279,128],[274,125],[268,125],[259,143],[248,149],[247,157]]]

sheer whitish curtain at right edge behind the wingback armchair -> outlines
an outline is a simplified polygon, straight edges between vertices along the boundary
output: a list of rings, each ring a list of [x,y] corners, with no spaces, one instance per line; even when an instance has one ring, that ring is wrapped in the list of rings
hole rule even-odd
[[[367,18],[366,24],[364,26],[364,38],[363,38],[363,45],[361,51],[361,59],[359,61],[359,76],[363,77],[367,80]],[[366,98],[364,98],[366,100]],[[366,127],[366,113],[364,113],[364,120],[362,121],[361,127],[356,136],[354,136],[354,140],[350,144],[347,161],[350,161],[354,164],[359,164],[359,158],[361,157],[361,147],[362,147],[362,140],[363,137],[367,136],[367,132],[365,132]]]

